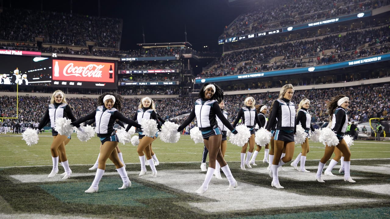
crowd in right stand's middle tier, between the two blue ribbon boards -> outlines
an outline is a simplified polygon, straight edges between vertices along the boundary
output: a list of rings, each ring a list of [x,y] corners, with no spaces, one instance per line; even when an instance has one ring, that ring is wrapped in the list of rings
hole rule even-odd
[[[308,57],[311,57],[311,59],[307,62],[316,62],[316,65],[320,65],[388,53],[390,52],[388,45],[390,43],[389,35],[390,28],[385,26],[378,29],[348,32],[346,35],[331,35],[310,41],[301,40],[256,49],[232,51],[223,54],[222,57],[216,60],[216,65],[210,71],[202,72],[197,77],[209,78],[230,74],[246,74],[251,73],[254,68],[257,68],[255,69],[256,71],[273,71],[301,67],[303,66],[302,58]],[[357,50],[358,46],[365,43],[369,46],[377,47]],[[333,51],[330,54],[321,54],[321,51],[327,49],[333,49]],[[322,58],[320,58],[320,55]],[[269,63],[273,57],[282,58]],[[314,61],[313,58],[317,60]],[[245,67],[259,64],[263,65]]]

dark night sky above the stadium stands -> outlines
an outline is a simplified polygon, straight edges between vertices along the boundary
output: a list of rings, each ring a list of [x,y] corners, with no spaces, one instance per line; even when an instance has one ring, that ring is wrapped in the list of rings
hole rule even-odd
[[[98,0],[3,0],[3,7],[70,13],[71,2],[74,14],[99,14]],[[100,16],[123,19],[122,50],[137,49],[144,42],[142,28],[146,43],[184,42],[186,28],[194,49],[209,46],[213,51],[224,26],[245,10],[229,7],[227,0],[100,0]]]

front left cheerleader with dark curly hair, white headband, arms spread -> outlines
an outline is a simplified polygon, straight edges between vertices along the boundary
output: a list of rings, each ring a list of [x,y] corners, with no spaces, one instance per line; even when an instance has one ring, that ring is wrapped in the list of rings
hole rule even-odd
[[[97,104],[100,106],[97,106],[95,111],[79,118],[72,123],[73,125],[78,125],[82,122],[95,118],[95,131],[101,142],[99,164],[97,166],[96,175],[92,185],[85,191],[85,193],[96,193],[99,190],[99,182],[103,177],[103,173],[105,172],[106,161],[108,158],[113,162],[115,168],[122,178],[123,185],[118,189],[126,189],[131,187],[131,181],[127,175],[126,168],[119,159],[116,149],[119,140],[114,129],[114,124],[115,120],[120,120],[126,124],[129,124],[129,126],[133,125],[134,127],[140,127],[140,125],[138,125],[134,120],[126,118],[122,115],[120,112],[122,108],[122,102],[123,97],[119,94],[109,92],[103,93],[97,99]]]

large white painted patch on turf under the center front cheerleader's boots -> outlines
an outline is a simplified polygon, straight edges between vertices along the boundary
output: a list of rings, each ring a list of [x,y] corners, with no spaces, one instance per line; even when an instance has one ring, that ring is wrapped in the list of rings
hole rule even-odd
[[[200,187],[200,185],[202,185],[204,176],[204,173],[199,173],[197,170],[175,170],[158,171],[158,177],[146,177],[145,179],[196,195],[195,191]],[[205,212],[226,212],[227,209],[229,209],[229,211],[242,211],[275,208],[280,206],[289,208],[319,206],[324,205],[325,203],[337,205],[344,203],[366,203],[378,201],[378,199],[368,198],[357,199],[301,195],[291,193],[288,189],[278,190],[272,188],[271,180],[269,182],[269,187],[261,187],[238,182],[238,187],[236,189],[233,191],[226,191],[228,186],[229,182],[226,178],[217,180],[213,177],[208,190],[201,196],[216,201],[185,202],[178,204],[184,207],[190,206],[191,210],[194,210],[193,208],[199,208]]]

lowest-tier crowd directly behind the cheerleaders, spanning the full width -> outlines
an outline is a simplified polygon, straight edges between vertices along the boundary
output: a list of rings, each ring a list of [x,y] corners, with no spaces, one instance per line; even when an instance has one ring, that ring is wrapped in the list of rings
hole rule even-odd
[[[145,90],[145,95],[148,95]],[[312,122],[327,122],[329,115],[326,113],[326,101],[330,97],[344,94],[350,99],[347,109],[349,121],[367,122],[369,118],[383,117],[390,120],[390,84],[382,85],[361,85],[356,87],[340,87],[327,89],[296,90],[293,102],[298,103],[303,98],[310,100],[309,112]],[[123,94],[125,95],[125,94]],[[241,107],[243,100],[248,95],[225,95],[225,110],[228,112],[228,119],[233,122]],[[256,104],[265,104],[268,107],[277,99],[278,92],[259,93],[251,95],[255,98]],[[169,99],[155,99],[156,111],[165,120],[171,120],[179,124],[186,117],[174,118],[189,113],[193,108],[193,102],[197,97],[178,97]],[[19,122],[39,122],[42,118],[50,97],[20,96],[19,97]],[[96,98],[67,98],[67,102],[74,108],[73,114],[76,118],[92,112],[96,107]],[[128,117],[134,115],[138,108],[140,98],[126,98],[123,103],[122,113]],[[16,117],[16,96],[1,96],[0,109],[2,117]]]

